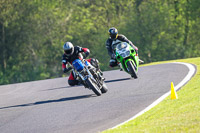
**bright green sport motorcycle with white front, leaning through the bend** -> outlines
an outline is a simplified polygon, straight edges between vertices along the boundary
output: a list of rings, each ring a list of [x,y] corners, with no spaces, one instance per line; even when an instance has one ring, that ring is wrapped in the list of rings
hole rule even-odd
[[[139,57],[136,51],[127,42],[121,42],[117,44],[115,53],[120,67],[136,79],[139,68]]]

